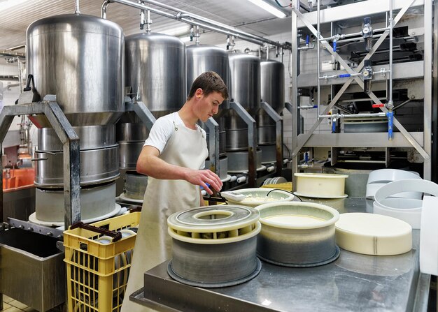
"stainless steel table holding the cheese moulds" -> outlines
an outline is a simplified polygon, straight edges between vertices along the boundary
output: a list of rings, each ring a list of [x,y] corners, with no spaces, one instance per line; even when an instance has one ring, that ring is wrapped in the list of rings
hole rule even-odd
[[[312,200],[339,212],[364,212],[362,198]],[[157,311],[427,311],[430,276],[418,269],[419,230],[414,248],[394,256],[341,249],[334,262],[290,268],[262,262],[252,280],[227,288],[195,288],[174,281],[167,261],[144,275],[131,299]]]

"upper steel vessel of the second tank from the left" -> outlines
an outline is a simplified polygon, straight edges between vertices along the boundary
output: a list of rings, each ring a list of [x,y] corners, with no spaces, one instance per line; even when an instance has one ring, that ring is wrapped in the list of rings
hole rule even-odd
[[[174,36],[142,33],[125,40],[126,85],[161,117],[185,102],[185,45]]]

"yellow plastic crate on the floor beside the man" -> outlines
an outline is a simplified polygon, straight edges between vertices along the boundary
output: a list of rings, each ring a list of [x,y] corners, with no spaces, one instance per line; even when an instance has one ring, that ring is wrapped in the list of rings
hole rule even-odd
[[[132,212],[92,225],[120,231],[139,225],[140,212]],[[131,267],[136,235],[117,242],[97,232],[74,228],[64,231],[69,312],[120,311]]]

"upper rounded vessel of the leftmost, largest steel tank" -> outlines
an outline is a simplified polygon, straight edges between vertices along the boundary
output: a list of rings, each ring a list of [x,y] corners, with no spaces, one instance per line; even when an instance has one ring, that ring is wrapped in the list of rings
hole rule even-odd
[[[90,15],[56,15],[29,25],[27,72],[41,97],[56,94],[72,126],[111,124],[122,112],[123,30]],[[45,117],[32,117],[38,128]]]

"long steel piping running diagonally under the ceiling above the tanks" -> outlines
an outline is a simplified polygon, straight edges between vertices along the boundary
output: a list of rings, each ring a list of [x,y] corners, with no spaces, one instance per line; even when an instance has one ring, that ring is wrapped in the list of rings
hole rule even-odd
[[[120,4],[125,4],[126,6],[132,6],[134,8],[139,8],[141,10],[150,10],[153,13],[156,13],[158,15],[162,15],[164,17],[169,17],[173,20],[179,20],[181,22],[185,22],[187,24],[193,24],[197,25],[199,27],[202,27],[204,29],[209,29],[211,31],[216,31],[220,34],[226,34],[229,36],[235,36],[236,38],[241,38],[242,40],[249,41],[251,43],[255,43],[257,45],[264,45],[264,43],[268,43],[271,45],[274,45],[276,47],[283,47],[284,49],[291,50],[291,47],[289,45],[283,45],[281,43],[260,37],[255,36],[253,34],[248,34],[244,31],[240,31],[239,29],[236,29],[234,27],[230,27],[228,25],[209,20],[208,18],[192,14],[185,10],[179,10],[178,8],[174,8],[172,6],[168,6],[167,4],[159,3],[154,0],[143,0],[143,2],[153,4],[155,6],[160,6],[162,8],[166,8],[168,10],[176,11],[177,13],[171,14],[164,12],[162,10],[158,10],[156,8],[150,8],[148,6],[129,1],[129,0],[106,0],[104,3],[102,3],[102,9],[101,9],[101,17],[106,18],[106,9],[109,3],[115,2]]]

